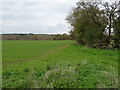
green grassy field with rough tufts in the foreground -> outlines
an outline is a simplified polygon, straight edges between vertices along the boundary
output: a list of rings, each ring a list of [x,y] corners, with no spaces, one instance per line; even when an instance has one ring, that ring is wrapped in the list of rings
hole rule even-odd
[[[118,52],[75,41],[3,41],[7,88],[117,88]]]

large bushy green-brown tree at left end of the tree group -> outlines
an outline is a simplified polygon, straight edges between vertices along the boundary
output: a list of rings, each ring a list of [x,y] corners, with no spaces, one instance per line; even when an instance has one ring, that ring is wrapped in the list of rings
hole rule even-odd
[[[107,25],[104,12],[100,11],[97,2],[78,2],[66,20],[74,29],[78,44],[98,46],[103,38]]]

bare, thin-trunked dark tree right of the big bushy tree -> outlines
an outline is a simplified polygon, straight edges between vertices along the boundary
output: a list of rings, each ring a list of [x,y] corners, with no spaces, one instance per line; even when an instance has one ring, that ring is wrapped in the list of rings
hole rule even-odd
[[[103,6],[103,10],[105,15],[108,18],[108,43],[111,39],[111,32],[113,27],[113,21],[117,18],[117,10],[120,8],[120,1],[119,2],[99,2],[100,5]]]

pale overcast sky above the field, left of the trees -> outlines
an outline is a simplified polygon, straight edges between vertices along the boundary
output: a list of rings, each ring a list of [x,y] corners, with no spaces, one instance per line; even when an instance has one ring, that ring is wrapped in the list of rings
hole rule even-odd
[[[4,0],[0,3],[2,33],[68,33],[65,18],[77,1]]]

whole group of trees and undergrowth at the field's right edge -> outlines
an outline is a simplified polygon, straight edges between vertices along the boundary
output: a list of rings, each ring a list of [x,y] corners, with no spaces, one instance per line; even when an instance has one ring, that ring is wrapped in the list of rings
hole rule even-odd
[[[80,45],[119,48],[120,1],[77,2],[66,18],[70,35]]]

